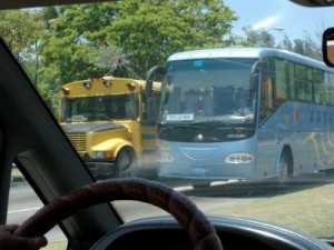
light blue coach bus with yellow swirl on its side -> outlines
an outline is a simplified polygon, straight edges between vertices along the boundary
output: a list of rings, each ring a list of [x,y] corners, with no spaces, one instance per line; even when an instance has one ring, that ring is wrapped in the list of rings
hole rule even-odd
[[[157,70],[159,69],[159,70]],[[171,54],[158,123],[160,178],[195,188],[334,168],[334,71],[284,50]]]

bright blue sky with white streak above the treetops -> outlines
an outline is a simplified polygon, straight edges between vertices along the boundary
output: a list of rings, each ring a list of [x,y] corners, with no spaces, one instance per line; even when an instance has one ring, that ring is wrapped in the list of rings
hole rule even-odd
[[[239,17],[234,23],[235,34],[245,36],[242,28],[252,26],[267,30],[279,42],[284,34],[291,40],[303,39],[305,33],[316,38],[315,32],[334,27],[334,7],[299,7],[288,0],[224,0],[224,4]],[[277,28],[283,31],[276,31]]]

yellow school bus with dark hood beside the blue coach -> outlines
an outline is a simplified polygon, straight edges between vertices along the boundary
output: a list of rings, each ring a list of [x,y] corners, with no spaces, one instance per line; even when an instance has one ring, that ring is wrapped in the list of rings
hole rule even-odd
[[[97,179],[155,168],[160,82],[150,84],[146,94],[144,80],[104,77],[59,89],[59,122]]]

